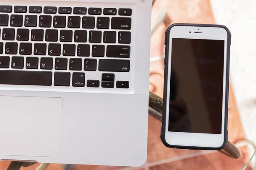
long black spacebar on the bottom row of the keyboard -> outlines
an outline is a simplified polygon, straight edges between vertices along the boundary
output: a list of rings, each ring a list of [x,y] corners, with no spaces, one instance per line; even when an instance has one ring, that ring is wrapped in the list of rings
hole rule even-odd
[[[0,70],[0,84],[50,86],[52,85],[52,72]]]

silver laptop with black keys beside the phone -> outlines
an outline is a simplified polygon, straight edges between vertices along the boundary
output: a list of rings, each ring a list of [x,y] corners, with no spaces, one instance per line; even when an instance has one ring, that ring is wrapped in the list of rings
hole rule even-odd
[[[0,0],[0,160],[140,166],[151,0]]]

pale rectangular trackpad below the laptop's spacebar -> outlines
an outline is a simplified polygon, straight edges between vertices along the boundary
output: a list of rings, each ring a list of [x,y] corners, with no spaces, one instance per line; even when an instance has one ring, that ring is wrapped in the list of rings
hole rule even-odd
[[[0,155],[60,156],[62,99],[0,96]]]

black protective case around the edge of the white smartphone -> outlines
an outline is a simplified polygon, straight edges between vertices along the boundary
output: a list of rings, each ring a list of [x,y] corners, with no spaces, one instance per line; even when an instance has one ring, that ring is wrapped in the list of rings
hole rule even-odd
[[[168,72],[168,59],[169,59],[169,33],[174,26],[201,26],[201,27],[221,27],[227,31],[227,75],[226,75],[226,101],[225,101],[225,122],[224,122],[224,143],[221,147],[193,147],[193,146],[180,146],[180,145],[170,145],[165,139],[166,130],[166,95],[167,95],[167,72]],[[177,149],[191,149],[191,150],[221,150],[227,144],[227,116],[228,116],[228,95],[229,95],[229,68],[230,68],[230,45],[231,45],[231,33],[226,26],[214,25],[214,24],[188,24],[188,23],[175,23],[170,25],[165,32],[165,70],[164,70],[164,91],[163,91],[163,120],[161,127],[160,138],[166,147],[177,148]]]

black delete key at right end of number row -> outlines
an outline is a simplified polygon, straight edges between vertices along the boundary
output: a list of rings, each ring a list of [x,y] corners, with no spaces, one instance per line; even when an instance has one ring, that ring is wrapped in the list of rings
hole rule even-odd
[[[131,29],[131,18],[125,17],[112,17],[112,29]]]

